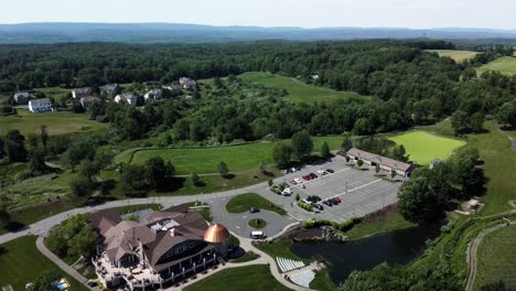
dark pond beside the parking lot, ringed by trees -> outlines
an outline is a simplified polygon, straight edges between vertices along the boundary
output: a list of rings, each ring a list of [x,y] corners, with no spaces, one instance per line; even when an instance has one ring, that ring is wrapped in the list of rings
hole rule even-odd
[[[291,251],[301,258],[320,256],[327,260],[330,277],[340,284],[353,270],[370,270],[383,262],[406,265],[412,261],[423,254],[424,241],[436,236],[436,231],[415,227],[346,242],[294,242]]]

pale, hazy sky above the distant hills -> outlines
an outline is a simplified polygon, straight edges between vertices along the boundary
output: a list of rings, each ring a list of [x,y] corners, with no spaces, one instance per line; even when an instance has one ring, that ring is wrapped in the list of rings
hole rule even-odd
[[[516,29],[514,0],[0,0],[0,23]]]

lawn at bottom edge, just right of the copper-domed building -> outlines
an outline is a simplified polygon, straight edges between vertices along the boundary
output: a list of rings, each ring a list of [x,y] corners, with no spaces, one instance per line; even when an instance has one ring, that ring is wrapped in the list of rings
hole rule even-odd
[[[282,291],[289,290],[270,274],[268,266],[232,268],[184,289],[185,291]]]

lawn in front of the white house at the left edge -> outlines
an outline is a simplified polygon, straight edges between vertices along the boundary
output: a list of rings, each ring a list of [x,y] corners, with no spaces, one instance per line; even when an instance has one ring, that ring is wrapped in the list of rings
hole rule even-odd
[[[47,127],[49,134],[85,132],[107,128],[107,123],[89,120],[86,114],[78,115],[68,111],[32,114],[18,109],[17,116],[1,117],[0,120],[2,136],[11,129],[18,129],[23,134],[37,133],[42,125]]]

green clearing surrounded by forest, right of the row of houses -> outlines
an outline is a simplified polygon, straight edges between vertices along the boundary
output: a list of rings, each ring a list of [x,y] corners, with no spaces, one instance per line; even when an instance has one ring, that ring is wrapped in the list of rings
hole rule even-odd
[[[276,74],[249,72],[241,74],[239,77],[245,80],[264,84],[267,87],[286,89],[289,93],[287,99],[293,103],[312,104],[316,101],[333,101],[347,98],[365,98],[356,93],[335,91],[330,88],[308,85],[298,79]]]

